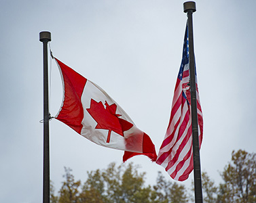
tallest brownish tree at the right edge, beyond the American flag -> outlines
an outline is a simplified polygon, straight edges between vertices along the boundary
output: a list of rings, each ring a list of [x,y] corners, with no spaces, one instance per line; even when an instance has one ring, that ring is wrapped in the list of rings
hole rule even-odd
[[[217,202],[256,202],[256,154],[244,150],[232,152],[232,162],[225,166]]]

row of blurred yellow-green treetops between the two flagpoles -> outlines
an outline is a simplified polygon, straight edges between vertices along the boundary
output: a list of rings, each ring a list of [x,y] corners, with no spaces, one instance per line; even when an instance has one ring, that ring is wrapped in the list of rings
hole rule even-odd
[[[166,181],[158,173],[153,188],[145,185],[145,173],[139,173],[134,164],[109,164],[107,169],[88,172],[84,185],[75,181],[70,168],[65,168],[65,181],[58,191],[52,193],[52,203],[185,203],[184,185]],[[81,187],[80,187],[81,186]],[[53,189],[53,187],[52,187]]]

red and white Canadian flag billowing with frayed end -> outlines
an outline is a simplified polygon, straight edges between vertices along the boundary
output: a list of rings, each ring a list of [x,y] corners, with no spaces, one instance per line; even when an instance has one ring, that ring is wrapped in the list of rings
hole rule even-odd
[[[120,106],[98,85],[54,58],[64,97],[56,119],[80,135],[107,148],[124,150],[123,161],[145,155],[156,161],[155,145]]]

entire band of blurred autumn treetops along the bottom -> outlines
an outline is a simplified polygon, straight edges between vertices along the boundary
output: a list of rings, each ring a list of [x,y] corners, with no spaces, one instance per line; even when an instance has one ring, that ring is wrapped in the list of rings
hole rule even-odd
[[[145,173],[134,164],[109,164],[107,169],[87,172],[84,184],[75,181],[70,168],[65,168],[65,181],[58,194],[51,187],[52,203],[185,203],[194,202],[194,188],[158,173],[156,184],[145,185]],[[221,173],[223,181],[215,185],[202,173],[204,203],[255,203],[256,154],[244,150],[232,152],[232,160]]]

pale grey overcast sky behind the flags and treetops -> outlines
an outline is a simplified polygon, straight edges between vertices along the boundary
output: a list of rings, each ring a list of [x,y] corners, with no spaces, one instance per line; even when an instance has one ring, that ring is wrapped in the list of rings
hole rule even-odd
[[[102,87],[147,133],[158,152],[181,64],[184,1],[0,1],[0,202],[42,201],[43,64],[39,32],[52,33],[54,56]],[[255,152],[256,1],[196,1],[194,49],[204,114],[201,167],[215,183],[232,150]],[[50,113],[62,101],[52,64]],[[64,166],[75,179],[122,163],[124,152],[96,145],[58,120],[50,122],[50,172],[56,190]],[[147,183],[168,174],[146,156]],[[190,186],[193,173],[183,183]]]

